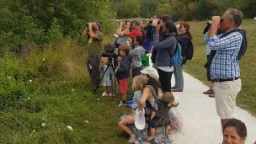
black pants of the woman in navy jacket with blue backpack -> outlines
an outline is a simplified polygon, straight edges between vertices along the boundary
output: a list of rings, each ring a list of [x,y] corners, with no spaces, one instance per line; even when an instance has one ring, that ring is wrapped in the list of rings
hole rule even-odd
[[[164,92],[172,92],[171,90],[171,79],[173,72],[164,72],[161,69],[157,68],[159,74],[159,82],[161,83]]]

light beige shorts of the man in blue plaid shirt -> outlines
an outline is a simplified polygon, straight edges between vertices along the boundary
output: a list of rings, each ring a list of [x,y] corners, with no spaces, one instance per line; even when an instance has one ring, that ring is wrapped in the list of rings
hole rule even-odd
[[[232,119],[236,107],[237,93],[241,90],[241,79],[214,83],[216,112],[221,119]]]

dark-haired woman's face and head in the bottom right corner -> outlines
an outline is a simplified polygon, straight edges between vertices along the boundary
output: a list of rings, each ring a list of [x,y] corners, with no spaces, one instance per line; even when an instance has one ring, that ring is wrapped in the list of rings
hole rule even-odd
[[[246,141],[247,129],[246,125],[241,120],[228,120],[222,132],[222,144],[244,144]]]

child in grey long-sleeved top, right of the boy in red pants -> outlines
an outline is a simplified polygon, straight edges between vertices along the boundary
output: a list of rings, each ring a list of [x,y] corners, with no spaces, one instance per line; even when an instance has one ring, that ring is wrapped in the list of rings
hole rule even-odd
[[[129,56],[131,56],[131,70],[132,77],[138,76],[141,74],[142,62],[141,56],[145,55],[145,49],[141,46],[143,44],[143,37],[136,36],[133,42],[135,48],[129,52]]]

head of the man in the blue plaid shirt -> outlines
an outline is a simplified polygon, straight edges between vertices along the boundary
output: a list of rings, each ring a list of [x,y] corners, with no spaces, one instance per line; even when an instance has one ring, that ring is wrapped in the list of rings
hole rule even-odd
[[[220,29],[227,32],[238,28],[242,24],[243,13],[235,8],[229,8],[221,17]]]

